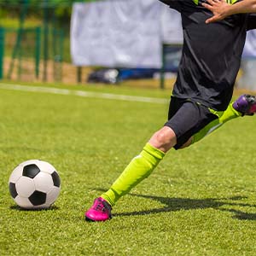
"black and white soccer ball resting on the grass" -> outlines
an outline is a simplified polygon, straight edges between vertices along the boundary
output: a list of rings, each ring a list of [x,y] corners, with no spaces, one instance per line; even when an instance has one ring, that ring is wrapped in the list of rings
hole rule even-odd
[[[49,208],[61,190],[55,167],[43,160],[27,160],[9,177],[9,192],[16,204],[25,209]]]

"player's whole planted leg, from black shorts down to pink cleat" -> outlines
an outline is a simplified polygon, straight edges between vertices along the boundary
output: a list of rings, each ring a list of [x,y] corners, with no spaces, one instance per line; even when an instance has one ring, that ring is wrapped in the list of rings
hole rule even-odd
[[[111,207],[121,196],[129,193],[148,177],[170,148],[181,147],[195,132],[218,117],[208,108],[194,102],[172,99],[169,118],[171,119],[166,125],[150,138],[143,151],[131,160],[111,188],[97,198],[93,207],[85,212],[87,220],[102,221],[111,218]]]

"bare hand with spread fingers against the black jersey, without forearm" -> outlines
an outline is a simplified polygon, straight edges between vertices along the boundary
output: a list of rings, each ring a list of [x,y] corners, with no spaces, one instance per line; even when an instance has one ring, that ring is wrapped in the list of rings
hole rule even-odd
[[[207,0],[207,3],[202,3],[202,5],[213,14],[212,18],[206,20],[206,23],[223,20],[228,16],[226,10],[230,8],[230,4],[226,3],[225,0]]]

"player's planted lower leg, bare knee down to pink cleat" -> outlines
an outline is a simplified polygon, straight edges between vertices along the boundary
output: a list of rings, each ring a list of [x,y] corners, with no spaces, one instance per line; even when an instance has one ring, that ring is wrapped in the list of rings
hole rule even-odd
[[[90,210],[85,212],[86,220],[104,221],[111,218],[111,208],[119,198],[148,177],[175,144],[176,136],[171,128],[163,127],[155,132],[143,151],[131,160],[111,188],[97,198]]]

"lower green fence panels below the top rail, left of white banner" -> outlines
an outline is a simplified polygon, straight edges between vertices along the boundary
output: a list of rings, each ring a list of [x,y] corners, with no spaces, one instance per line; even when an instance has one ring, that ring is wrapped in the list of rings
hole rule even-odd
[[[63,41],[62,30],[50,29],[47,56],[42,44],[42,27],[0,27],[0,79],[41,79],[47,81],[50,69],[55,81],[62,78]]]

